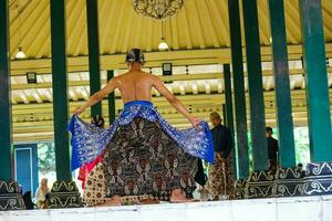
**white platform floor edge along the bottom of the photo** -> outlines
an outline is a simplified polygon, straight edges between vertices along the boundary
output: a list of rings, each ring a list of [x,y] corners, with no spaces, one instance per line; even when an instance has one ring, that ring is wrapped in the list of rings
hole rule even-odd
[[[0,221],[332,221],[332,196],[0,212]]]

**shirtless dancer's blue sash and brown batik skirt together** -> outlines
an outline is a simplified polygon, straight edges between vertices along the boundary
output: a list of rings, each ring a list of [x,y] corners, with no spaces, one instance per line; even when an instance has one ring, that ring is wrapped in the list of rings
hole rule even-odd
[[[168,200],[174,189],[183,189],[190,197],[196,188],[196,157],[214,160],[207,123],[200,123],[199,130],[178,130],[149,102],[125,104],[108,129],[86,124],[76,116],[70,129],[72,168],[96,165],[85,180],[83,194],[83,201],[91,206],[115,194]],[[105,140],[107,144],[102,147]],[[102,160],[96,160],[101,156]]]

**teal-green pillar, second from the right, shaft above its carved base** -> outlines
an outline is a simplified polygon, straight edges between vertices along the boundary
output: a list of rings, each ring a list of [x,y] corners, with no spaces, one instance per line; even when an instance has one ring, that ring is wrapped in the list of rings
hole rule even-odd
[[[269,0],[269,10],[279,135],[279,162],[281,168],[289,168],[295,166],[295,148],[283,1]]]

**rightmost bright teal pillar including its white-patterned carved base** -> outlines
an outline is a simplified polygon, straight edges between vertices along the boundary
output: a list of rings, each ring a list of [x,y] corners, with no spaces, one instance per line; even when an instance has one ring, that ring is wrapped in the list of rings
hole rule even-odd
[[[305,194],[332,194],[332,131],[321,0],[299,0],[311,161]]]

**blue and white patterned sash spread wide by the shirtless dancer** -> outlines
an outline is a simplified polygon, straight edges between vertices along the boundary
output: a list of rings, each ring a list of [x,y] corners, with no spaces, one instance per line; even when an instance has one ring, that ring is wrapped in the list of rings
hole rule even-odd
[[[208,162],[214,161],[214,145],[209,126],[201,122],[199,127],[179,130],[169,125],[147,101],[134,101],[124,105],[114,123],[106,129],[83,122],[73,115],[69,130],[72,133],[72,170],[80,168],[96,159],[104,152],[120,125],[129,124],[135,117],[149,122],[157,122],[160,128],[169,135],[185,152],[201,158]]]

